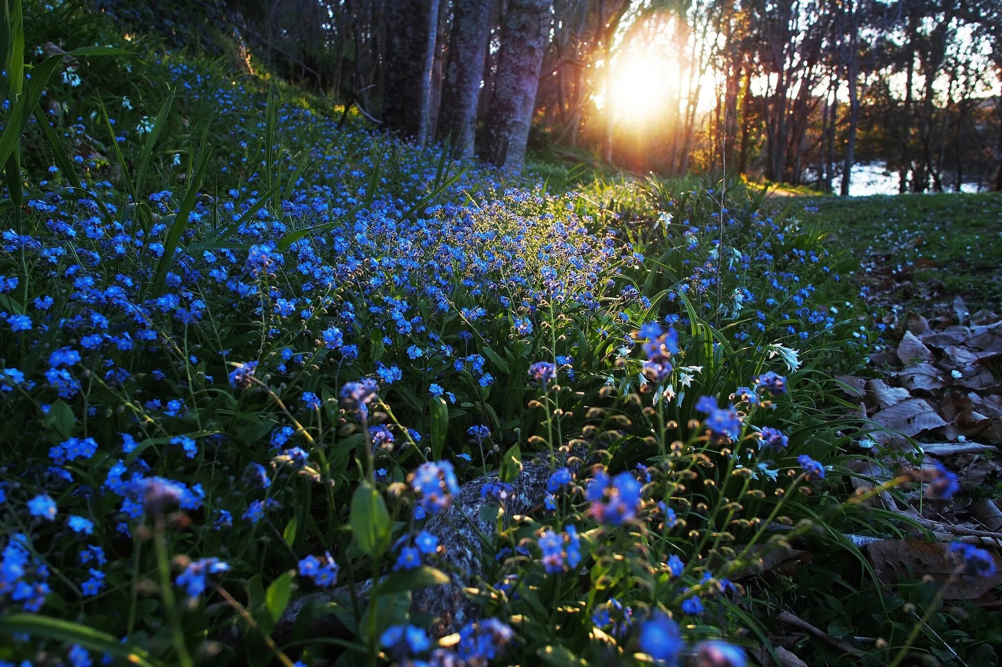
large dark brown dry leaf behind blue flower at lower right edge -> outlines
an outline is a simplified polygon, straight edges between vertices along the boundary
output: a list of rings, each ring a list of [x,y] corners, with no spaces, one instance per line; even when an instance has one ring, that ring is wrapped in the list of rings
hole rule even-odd
[[[922,540],[883,540],[866,547],[877,578],[896,584],[911,578],[932,577],[944,585],[943,599],[969,600],[980,597],[1002,584],[1002,558],[992,554],[996,572],[990,577],[952,576],[960,566],[956,554],[942,542]]]

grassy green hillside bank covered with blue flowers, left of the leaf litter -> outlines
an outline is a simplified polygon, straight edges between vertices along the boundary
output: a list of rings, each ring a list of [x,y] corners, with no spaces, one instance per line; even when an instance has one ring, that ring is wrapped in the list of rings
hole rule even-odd
[[[994,664],[999,615],[941,605],[998,557],[875,502],[958,478],[878,470],[824,211],[511,175],[9,16],[0,664]],[[906,539],[890,583],[865,545]]]

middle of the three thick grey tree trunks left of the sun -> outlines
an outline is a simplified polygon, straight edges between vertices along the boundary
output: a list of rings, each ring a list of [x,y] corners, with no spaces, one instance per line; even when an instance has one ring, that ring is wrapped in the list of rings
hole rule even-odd
[[[477,101],[491,32],[493,0],[455,0],[449,55],[442,81],[438,135],[457,155],[473,155]]]

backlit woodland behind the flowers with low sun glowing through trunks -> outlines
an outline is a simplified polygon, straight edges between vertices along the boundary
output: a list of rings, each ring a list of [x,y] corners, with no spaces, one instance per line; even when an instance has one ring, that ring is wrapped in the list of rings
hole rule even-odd
[[[225,0],[287,76],[509,170],[523,146],[636,172],[849,191],[1002,187],[996,0]]]

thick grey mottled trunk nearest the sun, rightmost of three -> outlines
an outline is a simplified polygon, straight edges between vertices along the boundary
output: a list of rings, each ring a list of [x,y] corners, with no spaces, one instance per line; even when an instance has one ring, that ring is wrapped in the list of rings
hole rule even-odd
[[[525,161],[549,26],[549,0],[509,3],[481,150],[484,160],[508,174],[519,173]]]

